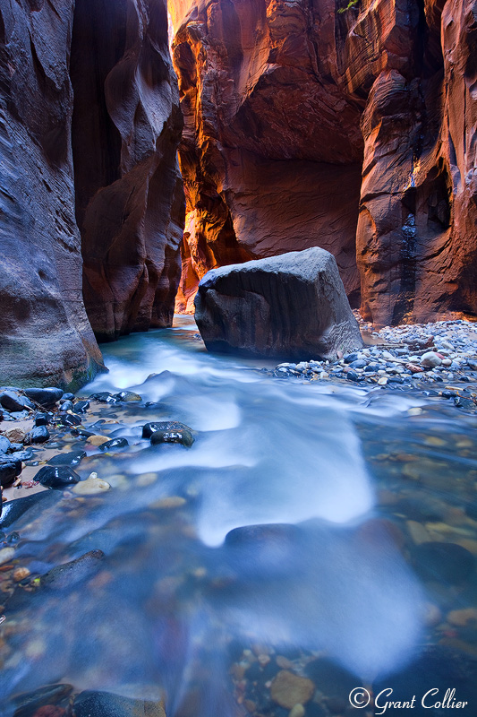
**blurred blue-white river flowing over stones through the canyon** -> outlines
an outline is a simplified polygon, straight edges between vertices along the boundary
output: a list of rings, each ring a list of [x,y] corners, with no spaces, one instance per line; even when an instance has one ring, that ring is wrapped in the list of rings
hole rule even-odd
[[[418,393],[270,378],[208,354],[196,331],[180,318],[103,347],[109,373],[81,395],[142,397],[83,419],[129,441],[115,454],[90,446],[75,469],[112,489],[50,491],[8,530],[32,575],[105,557],[14,593],[3,696],[67,682],[165,696],[168,717],[231,717],[241,704],[280,717],[270,680],[288,665],[319,690],[311,717],[333,713],[333,690],[345,714],[361,685],[407,698],[457,687],[473,700],[457,712],[475,717],[476,418]],[[191,448],[141,438],[147,421],[171,419],[192,428]]]

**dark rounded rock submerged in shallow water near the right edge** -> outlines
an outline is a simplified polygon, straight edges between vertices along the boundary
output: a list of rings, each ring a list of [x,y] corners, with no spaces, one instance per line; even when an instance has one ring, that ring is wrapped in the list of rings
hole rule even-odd
[[[469,550],[456,543],[425,542],[413,549],[413,562],[426,580],[458,584],[475,569]]]

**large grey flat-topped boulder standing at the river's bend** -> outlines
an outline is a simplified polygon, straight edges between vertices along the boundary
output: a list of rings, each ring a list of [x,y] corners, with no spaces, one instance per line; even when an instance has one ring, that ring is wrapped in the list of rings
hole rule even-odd
[[[307,359],[362,346],[335,257],[318,247],[213,269],[194,303],[210,351]]]

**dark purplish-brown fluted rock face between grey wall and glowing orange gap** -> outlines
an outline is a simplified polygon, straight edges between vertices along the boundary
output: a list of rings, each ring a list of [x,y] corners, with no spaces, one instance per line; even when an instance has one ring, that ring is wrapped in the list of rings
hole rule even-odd
[[[163,0],[77,0],[72,150],[83,292],[97,337],[172,323],[183,121]]]

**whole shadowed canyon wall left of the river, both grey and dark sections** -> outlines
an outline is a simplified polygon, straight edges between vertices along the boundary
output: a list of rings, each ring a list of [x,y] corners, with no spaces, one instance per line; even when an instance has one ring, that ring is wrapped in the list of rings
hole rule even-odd
[[[182,124],[163,0],[0,4],[1,383],[84,384],[95,333],[170,324]]]

